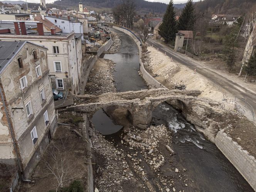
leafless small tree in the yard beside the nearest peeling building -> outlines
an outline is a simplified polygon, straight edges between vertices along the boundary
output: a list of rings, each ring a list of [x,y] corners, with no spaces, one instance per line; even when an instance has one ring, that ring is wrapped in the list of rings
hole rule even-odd
[[[73,150],[74,143],[70,143],[67,138],[54,140],[42,157],[45,176],[54,175],[56,179],[56,192],[66,182],[74,180],[81,175],[81,173],[75,171],[77,166],[70,158]]]

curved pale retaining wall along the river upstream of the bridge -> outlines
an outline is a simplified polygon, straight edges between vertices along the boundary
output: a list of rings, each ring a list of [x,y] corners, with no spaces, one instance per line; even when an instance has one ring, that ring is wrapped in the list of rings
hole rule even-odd
[[[133,38],[133,40],[135,41],[135,43],[138,46],[139,49],[139,53],[140,53],[140,71],[142,74],[143,79],[153,88],[166,88],[164,85],[162,85],[161,83],[159,83],[154,77],[152,77],[145,69],[144,64],[142,62],[142,50],[141,50],[141,46],[140,46],[140,40],[138,39],[138,37],[136,37],[136,35],[126,29],[126,28],[120,28],[120,27],[116,27],[113,26],[114,29],[120,30],[122,32],[124,32],[125,34],[129,35],[131,38]]]

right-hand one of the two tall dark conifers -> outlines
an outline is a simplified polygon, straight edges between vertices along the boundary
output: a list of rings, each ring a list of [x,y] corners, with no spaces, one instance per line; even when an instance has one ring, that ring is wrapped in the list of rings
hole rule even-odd
[[[194,30],[195,25],[195,7],[193,0],[188,0],[182,9],[178,22],[178,30]]]

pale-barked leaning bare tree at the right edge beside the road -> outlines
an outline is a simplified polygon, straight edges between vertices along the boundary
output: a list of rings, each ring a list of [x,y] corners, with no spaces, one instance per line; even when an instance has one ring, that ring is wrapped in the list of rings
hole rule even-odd
[[[242,60],[242,66],[238,76],[240,77],[243,71],[244,65],[249,61],[253,53],[253,47],[256,45],[256,11],[246,19],[244,37],[247,40],[246,47],[244,49],[244,57]]]

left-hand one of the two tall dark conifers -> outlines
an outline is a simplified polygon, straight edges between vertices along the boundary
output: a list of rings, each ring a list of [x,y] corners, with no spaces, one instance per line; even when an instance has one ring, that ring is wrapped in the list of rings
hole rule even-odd
[[[177,21],[175,15],[173,0],[170,0],[166,12],[163,15],[163,21],[158,29],[158,33],[165,39],[165,43],[170,43],[175,39],[177,33]]]

